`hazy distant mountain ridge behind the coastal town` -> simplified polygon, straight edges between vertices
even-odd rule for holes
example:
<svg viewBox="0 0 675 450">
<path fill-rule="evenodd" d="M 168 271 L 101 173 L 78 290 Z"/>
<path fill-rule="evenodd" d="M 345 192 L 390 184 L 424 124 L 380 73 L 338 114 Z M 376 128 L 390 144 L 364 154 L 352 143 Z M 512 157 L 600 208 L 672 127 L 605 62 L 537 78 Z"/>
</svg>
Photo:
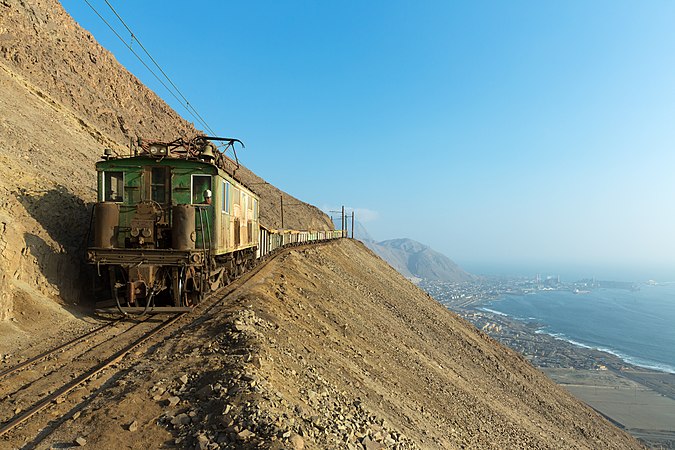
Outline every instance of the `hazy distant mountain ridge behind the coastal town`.
<svg viewBox="0 0 675 450">
<path fill-rule="evenodd" d="M 364 243 L 407 278 L 449 282 L 473 281 L 477 278 L 447 256 L 412 239 L 369 240 Z"/>
</svg>

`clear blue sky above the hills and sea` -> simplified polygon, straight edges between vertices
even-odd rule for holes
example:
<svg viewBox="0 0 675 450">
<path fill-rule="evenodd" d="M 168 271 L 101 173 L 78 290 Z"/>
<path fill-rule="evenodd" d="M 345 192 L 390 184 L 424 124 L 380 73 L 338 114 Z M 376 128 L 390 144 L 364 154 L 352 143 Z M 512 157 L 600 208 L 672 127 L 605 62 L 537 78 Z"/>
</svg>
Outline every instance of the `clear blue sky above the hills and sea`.
<svg viewBox="0 0 675 450">
<path fill-rule="evenodd" d="M 109 1 L 245 165 L 378 240 L 675 279 L 675 2 Z"/>
</svg>

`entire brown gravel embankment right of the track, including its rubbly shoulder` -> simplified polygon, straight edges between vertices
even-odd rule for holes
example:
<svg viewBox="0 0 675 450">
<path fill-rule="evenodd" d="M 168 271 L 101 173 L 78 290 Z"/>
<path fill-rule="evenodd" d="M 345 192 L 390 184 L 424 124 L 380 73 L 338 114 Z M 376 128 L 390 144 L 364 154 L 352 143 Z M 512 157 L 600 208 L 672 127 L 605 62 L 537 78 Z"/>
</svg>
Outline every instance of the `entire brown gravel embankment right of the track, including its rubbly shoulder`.
<svg viewBox="0 0 675 450">
<path fill-rule="evenodd" d="M 642 448 L 348 240 L 284 252 L 77 415 L 42 444 Z"/>
</svg>

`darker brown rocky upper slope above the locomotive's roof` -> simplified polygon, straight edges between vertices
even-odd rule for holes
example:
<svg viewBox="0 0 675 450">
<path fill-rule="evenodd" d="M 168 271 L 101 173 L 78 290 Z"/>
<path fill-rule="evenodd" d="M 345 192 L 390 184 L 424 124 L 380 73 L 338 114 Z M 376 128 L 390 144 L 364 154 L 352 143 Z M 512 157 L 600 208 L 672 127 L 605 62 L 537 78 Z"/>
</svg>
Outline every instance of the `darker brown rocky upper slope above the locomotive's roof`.
<svg viewBox="0 0 675 450">
<path fill-rule="evenodd" d="M 7 0 L 0 10 L 5 64 L 79 116 L 83 131 L 100 142 L 96 151 L 115 144 L 123 151 L 135 136 L 194 134 L 192 124 L 124 70 L 58 1 Z"/>
</svg>

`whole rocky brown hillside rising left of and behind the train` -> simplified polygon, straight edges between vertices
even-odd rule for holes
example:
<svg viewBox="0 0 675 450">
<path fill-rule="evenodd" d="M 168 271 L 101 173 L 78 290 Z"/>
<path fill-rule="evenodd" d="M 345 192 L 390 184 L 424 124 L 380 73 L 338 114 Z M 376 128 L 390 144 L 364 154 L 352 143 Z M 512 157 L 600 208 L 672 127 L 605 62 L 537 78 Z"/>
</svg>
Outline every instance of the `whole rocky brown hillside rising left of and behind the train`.
<svg viewBox="0 0 675 450">
<path fill-rule="evenodd" d="M 196 133 L 58 1 L 0 1 L 0 325 L 21 324 L 15 306 L 25 299 L 73 304 L 83 295 L 93 167 L 105 147 L 126 154 L 130 138 Z M 262 196 L 262 222 L 279 227 L 288 194 L 245 168 L 237 177 Z M 303 205 L 286 212 L 286 227 L 332 228 Z"/>
</svg>

